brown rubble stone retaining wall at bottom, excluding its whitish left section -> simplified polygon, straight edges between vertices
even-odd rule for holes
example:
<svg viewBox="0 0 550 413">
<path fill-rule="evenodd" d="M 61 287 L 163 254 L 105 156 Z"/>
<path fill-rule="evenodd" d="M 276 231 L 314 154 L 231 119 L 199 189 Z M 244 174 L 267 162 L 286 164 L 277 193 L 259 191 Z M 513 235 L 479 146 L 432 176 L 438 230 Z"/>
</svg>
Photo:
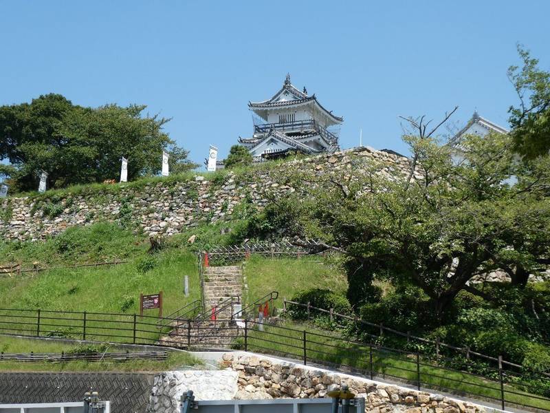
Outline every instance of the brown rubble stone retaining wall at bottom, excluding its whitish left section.
<svg viewBox="0 0 550 413">
<path fill-rule="evenodd" d="M 365 399 L 371 413 L 481 413 L 485 408 L 440 394 L 418 392 L 397 385 L 320 370 L 274 359 L 234 352 L 223 354 L 222 366 L 239 373 L 236 399 L 317 398 L 342 384 Z"/>
</svg>

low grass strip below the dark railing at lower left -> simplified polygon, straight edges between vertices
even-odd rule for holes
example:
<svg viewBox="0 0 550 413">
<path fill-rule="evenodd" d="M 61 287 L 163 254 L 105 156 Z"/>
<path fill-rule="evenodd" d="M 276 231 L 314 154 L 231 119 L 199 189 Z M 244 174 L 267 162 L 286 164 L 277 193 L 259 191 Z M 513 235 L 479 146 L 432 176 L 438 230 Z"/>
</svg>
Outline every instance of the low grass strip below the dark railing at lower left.
<svg viewBox="0 0 550 413">
<path fill-rule="evenodd" d="M 20 339 L 16 337 L 1 337 L 0 350 L 3 352 L 76 352 L 83 348 L 83 344 L 65 343 L 62 341 L 46 341 Z M 107 346 L 107 352 L 126 351 L 125 348 Z M 132 351 L 132 350 L 130 350 Z M 129 361 L 0 361 L 0 371 L 3 372 L 159 372 L 174 370 L 182 367 L 201 368 L 202 362 L 187 352 L 170 351 L 166 360 L 129 360 Z"/>
</svg>

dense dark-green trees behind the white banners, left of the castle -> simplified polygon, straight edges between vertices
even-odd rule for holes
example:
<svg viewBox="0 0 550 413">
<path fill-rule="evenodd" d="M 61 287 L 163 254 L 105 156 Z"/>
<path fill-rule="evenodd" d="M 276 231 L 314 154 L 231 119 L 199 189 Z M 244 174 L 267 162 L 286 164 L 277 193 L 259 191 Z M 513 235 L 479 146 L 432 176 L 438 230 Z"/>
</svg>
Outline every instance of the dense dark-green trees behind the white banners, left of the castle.
<svg viewBox="0 0 550 413">
<path fill-rule="evenodd" d="M 36 189 L 40 170 L 51 187 L 117 179 L 122 156 L 129 159 L 129 180 L 155 175 L 163 150 L 170 153 L 172 171 L 195 167 L 163 131 L 169 119 L 142 116 L 145 108 L 82 107 L 59 94 L 2 106 L 0 159 L 12 164 L 11 181 L 19 190 Z"/>
</svg>

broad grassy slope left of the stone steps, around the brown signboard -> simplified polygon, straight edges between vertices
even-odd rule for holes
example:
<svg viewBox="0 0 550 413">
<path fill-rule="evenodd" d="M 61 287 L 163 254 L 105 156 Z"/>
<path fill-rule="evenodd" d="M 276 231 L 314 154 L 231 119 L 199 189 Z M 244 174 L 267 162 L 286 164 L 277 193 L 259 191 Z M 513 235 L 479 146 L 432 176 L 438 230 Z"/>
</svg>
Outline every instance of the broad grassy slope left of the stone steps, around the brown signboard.
<svg viewBox="0 0 550 413">
<path fill-rule="evenodd" d="M 24 263 L 39 260 L 41 266 L 69 266 L 76 262 L 126 260 L 112 266 L 53 268 L 20 276 L 0 276 L 0 308 L 42 310 L 40 334 L 50 337 L 83 338 L 83 315 L 53 315 L 45 310 L 88 313 L 124 313 L 126 316 L 87 315 L 87 338 L 105 341 L 133 342 L 133 314 L 140 313 L 140 293 L 164 293 L 164 315 L 200 298 L 200 281 L 196 255 L 183 248 L 166 248 L 147 253 L 148 242 L 115 224 L 100 223 L 75 227 L 45 242 L 11 242 L 0 244 L 4 257 Z M 190 295 L 184 297 L 183 279 L 188 275 Z M 8 329 L 3 323 L 0 332 L 35 335 L 38 314 L 11 313 L 9 319 L 21 324 L 22 331 Z M 23 317 L 23 316 L 27 317 Z M 156 317 L 157 310 L 146 310 Z M 54 320 L 48 317 L 63 317 Z M 3 321 L 8 321 L 3 317 Z M 138 326 L 136 342 L 153 343 L 159 337 L 155 319 L 137 319 L 153 325 Z M 24 324 L 28 323 L 28 324 Z M 122 331 L 121 329 L 126 331 Z M 112 330 L 111 330 L 112 329 Z M 95 336 L 94 336 L 95 335 Z M 119 337 L 116 337 L 119 336 Z M 124 336 L 124 337 L 120 337 Z"/>
</svg>

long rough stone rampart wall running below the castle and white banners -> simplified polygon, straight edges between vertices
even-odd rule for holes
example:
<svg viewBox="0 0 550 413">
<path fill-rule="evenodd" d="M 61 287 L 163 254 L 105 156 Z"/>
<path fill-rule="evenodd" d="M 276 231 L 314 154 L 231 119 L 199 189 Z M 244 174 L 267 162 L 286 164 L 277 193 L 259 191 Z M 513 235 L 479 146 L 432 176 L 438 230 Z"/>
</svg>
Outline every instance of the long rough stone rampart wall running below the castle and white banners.
<svg viewBox="0 0 550 413">
<path fill-rule="evenodd" d="M 38 240 L 69 226 L 100 220 L 121 222 L 148 235 L 173 235 L 200 222 L 227 220 L 243 203 L 263 207 L 271 195 L 307 189 L 292 184 L 289 174 L 307 171 L 338 179 L 361 169 L 377 169 L 388 178 L 406 176 L 408 160 L 368 147 L 349 149 L 281 164 L 258 165 L 238 175 L 226 172 L 212 181 L 202 176 L 181 181 L 158 179 L 83 187 L 57 193 L 0 200 L 0 235 L 8 240 Z"/>
</svg>

